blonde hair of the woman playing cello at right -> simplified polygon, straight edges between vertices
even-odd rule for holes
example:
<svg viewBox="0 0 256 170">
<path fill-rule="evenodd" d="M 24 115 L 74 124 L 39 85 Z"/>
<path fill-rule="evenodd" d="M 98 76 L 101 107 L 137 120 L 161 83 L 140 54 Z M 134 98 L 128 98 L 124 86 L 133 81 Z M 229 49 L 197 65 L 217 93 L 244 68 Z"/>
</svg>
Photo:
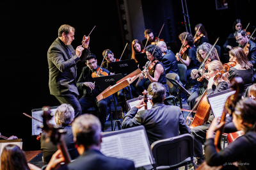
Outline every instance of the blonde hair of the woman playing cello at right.
<svg viewBox="0 0 256 170">
<path fill-rule="evenodd" d="M 208 65 L 208 70 L 209 68 L 211 68 L 211 70 L 213 70 L 214 72 L 216 70 L 220 71 L 220 70 L 223 70 L 223 65 L 220 61 L 218 60 L 214 60 L 214 61 L 211 61 Z M 221 82 L 221 79 L 227 83 L 230 83 L 230 81 L 228 80 L 228 76 L 229 76 L 229 73 L 228 72 L 225 72 L 221 75 L 221 77 L 218 77 L 216 79 L 216 82 L 217 82 L 217 85 Z"/>
</svg>

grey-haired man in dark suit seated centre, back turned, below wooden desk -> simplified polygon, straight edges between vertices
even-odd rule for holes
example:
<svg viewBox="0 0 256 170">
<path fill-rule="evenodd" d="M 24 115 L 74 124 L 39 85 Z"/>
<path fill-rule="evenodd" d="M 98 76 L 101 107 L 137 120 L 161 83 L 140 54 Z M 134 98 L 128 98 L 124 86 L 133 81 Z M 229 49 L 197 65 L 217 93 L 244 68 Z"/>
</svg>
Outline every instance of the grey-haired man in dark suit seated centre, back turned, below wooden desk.
<svg viewBox="0 0 256 170">
<path fill-rule="evenodd" d="M 152 100 L 150 100 L 153 105 L 152 109 L 138 112 L 138 109 L 145 106 L 144 101 L 140 100 L 136 107 L 133 107 L 125 115 L 122 128 L 143 125 L 146 129 L 149 144 L 161 139 L 175 137 L 179 133 L 190 133 L 180 108 L 163 104 L 165 93 L 166 88 L 163 84 L 159 82 L 151 83 L 148 86 L 148 95 L 152 95 Z"/>
</svg>

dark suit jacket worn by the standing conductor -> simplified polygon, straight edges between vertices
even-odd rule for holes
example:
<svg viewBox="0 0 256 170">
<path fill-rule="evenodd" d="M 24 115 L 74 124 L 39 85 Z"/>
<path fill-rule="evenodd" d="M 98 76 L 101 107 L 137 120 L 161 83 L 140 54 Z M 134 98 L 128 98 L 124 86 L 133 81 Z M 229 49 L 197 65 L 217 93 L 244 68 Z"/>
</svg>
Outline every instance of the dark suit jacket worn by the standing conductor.
<svg viewBox="0 0 256 170">
<path fill-rule="evenodd" d="M 72 57 L 68 54 L 68 49 Z M 65 45 L 57 38 L 47 52 L 49 65 L 49 88 L 51 95 L 79 95 L 76 87 L 76 63 L 80 61 L 72 45 Z"/>
</svg>

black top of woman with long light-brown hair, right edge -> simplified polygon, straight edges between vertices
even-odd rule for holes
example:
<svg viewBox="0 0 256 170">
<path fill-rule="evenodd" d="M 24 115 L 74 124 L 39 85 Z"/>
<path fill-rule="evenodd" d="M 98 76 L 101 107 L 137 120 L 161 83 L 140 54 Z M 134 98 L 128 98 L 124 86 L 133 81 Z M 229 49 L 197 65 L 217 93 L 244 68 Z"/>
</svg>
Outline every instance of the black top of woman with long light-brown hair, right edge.
<svg viewBox="0 0 256 170">
<path fill-rule="evenodd" d="M 229 77 L 228 79 L 231 80 L 233 77 L 241 77 L 244 81 L 244 93 L 246 89 L 253 84 L 253 68 L 247 70 L 237 70 L 234 67 L 231 67 L 228 71 Z"/>
</svg>

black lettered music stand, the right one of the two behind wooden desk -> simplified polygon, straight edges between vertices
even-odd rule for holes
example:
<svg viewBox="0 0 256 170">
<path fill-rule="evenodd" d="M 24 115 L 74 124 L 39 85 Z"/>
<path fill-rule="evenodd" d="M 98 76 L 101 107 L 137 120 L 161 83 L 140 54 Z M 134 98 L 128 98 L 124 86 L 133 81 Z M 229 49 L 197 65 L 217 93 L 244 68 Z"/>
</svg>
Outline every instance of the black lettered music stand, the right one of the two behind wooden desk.
<svg viewBox="0 0 256 170">
<path fill-rule="evenodd" d="M 134 59 L 127 59 L 127 60 L 113 62 L 113 63 L 110 63 L 110 66 L 113 69 L 113 72 L 122 73 L 124 77 L 126 75 L 129 75 L 129 73 L 132 73 L 138 69 L 136 61 Z M 130 98 L 132 98 L 132 89 L 130 85 L 129 85 L 129 95 L 130 95 Z"/>
</svg>

